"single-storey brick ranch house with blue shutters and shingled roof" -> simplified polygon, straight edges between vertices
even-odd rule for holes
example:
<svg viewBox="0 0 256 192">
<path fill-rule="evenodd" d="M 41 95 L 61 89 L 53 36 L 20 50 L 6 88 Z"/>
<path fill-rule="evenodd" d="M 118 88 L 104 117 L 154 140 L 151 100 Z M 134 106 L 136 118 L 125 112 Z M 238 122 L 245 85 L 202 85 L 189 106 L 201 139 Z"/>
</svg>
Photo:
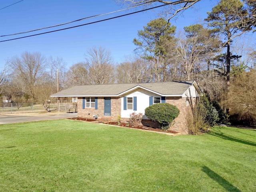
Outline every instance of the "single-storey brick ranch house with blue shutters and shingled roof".
<svg viewBox="0 0 256 192">
<path fill-rule="evenodd" d="M 201 94 L 195 81 L 175 81 L 74 86 L 51 97 L 78 97 L 78 117 L 112 121 L 118 115 L 126 121 L 132 112 L 144 114 L 152 104 L 170 103 L 180 110 L 171 130 L 186 132 L 186 117 Z M 154 124 L 145 115 L 143 119 L 145 126 Z"/>
</svg>

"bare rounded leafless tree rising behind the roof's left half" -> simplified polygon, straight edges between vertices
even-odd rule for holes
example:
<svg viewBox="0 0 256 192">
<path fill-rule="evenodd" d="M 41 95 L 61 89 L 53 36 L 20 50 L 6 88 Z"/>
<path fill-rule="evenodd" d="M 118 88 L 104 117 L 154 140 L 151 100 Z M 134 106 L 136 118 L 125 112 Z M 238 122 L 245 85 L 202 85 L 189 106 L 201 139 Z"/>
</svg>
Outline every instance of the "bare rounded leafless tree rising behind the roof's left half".
<svg viewBox="0 0 256 192">
<path fill-rule="evenodd" d="M 85 56 L 88 81 L 90 84 L 114 82 L 114 60 L 105 48 L 91 48 Z"/>
</svg>

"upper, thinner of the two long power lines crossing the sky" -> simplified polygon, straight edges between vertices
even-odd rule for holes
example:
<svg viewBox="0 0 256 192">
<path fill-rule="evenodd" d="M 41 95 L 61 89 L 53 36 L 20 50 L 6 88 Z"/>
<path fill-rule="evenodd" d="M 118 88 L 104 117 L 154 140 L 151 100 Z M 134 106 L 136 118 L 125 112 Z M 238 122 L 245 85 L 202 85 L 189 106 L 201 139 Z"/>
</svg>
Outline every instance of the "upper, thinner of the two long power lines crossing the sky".
<svg viewBox="0 0 256 192">
<path fill-rule="evenodd" d="M 70 21 L 70 22 L 66 22 L 66 23 L 62 23 L 62 24 L 57 24 L 57 25 L 53 25 L 53 26 L 48 26 L 48 27 L 44 27 L 44 28 L 34 29 L 34 30 L 26 31 L 26 32 L 19 32 L 19 33 L 8 34 L 8 35 L 1 35 L 0 37 L 24 34 L 24 33 L 29 33 L 29 32 L 33 32 L 33 31 L 42 30 L 42 29 L 62 26 L 62 25 L 70 24 L 70 23 L 77 22 L 77 21 L 82 21 L 82 20 L 86 20 L 86 19 L 90 19 L 90 18 L 94 18 L 94 17 L 98 17 L 98 16 L 104 16 L 104 15 L 108 15 L 108 14 L 112 14 L 112 13 L 128 10 L 128 9 L 131 9 L 131 8 L 136 8 L 136 7 L 139 7 L 139 6 L 142 6 L 142 5 L 146 5 L 146 4 L 149 4 L 149 3 L 152 3 L 152 2 L 147 2 L 147 3 L 139 4 L 139 5 L 136 5 L 136 6 L 132 6 L 132 7 L 129 7 L 129 8 L 125 8 L 125 9 L 122 9 L 122 10 L 117 10 L 117 11 L 108 12 L 108 13 L 104 13 L 104 14 L 94 15 L 94 16 L 90 16 L 90 17 L 86 17 L 86 18 L 82 18 L 82 19 L 78 19 L 78 20 L 74 20 L 74 21 Z"/>
</svg>

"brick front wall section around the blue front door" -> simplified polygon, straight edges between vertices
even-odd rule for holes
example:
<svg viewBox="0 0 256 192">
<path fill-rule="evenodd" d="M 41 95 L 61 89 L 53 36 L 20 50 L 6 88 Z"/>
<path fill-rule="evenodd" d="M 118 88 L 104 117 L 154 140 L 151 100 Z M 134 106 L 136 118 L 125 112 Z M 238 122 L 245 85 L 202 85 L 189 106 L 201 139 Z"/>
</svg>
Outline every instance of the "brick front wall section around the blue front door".
<svg viewBox="0 0 256 192">
<path fill-rule="evenodd" d="M 78 97 L 78 117 L 93 119 L 93 115 L 98 115 L 98 119 L 104 121 L 116 121 L 118 115 L 121 114 L 121 98 L 111 98 L 111 116 L 104 116 L 104 97 L 98 97 L 98 109 L 85 108 L 83 109 L 83 98 Z"/>
</svg>

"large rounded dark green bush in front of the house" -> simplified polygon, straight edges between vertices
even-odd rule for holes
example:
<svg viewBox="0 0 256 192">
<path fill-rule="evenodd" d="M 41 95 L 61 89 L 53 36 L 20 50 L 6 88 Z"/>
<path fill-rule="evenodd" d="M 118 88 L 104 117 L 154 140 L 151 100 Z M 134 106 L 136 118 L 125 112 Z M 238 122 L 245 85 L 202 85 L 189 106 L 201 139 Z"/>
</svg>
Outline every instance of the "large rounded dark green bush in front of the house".
<svg viewBox="0 0 256 192">
<path fill-rule="evenodd" d="M 160 123 L 162 130 L 167 130 L 179 113 L 180 110 L 169 103 L 157 103 L 145 109 L 145 115 L 150 120 Z"/>
</svg>

